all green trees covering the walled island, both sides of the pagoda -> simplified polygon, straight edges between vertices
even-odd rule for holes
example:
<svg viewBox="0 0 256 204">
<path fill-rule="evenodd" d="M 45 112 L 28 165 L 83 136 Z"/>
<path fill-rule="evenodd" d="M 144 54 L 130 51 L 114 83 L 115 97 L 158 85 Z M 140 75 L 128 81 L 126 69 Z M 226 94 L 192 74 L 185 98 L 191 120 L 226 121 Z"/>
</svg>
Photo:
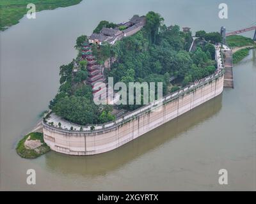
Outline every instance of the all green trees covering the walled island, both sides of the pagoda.
<svg viewBox="0 0 256 204">
<path fill-rule="evenodd" d="M 133 18 L 138 17 L 134 15 Z M 67 65 L 60 67 L 60 89 L 50 102 L 49 108 L 61 118 L 84 126 L 102 124 L 116 118 L 113 108 L 129 112 L 142 105 L 95 105 L 92 86 L 88 83 L 90 71 L 84 52 L 95 57 L 97 64 L 104 66 L 108 59 L 115 59 L 104 76 L 113 77 L 114 82 L 163 82 L 163 94 L 179 90 L 195 80 L 211 75 L 216 70 L 215 48 L 220 34 L 208 33 L 206 43 L 198 45 L 193 52 L 189 47 L 193 41 L 191 32 L 180 31 L 179 25 L 166 26 L 158 13 L 150 11 L 145 25 L 131 36 L 116 41 L 114 45 L 103 41 L 88 43 L 88 36 L 79 36 L 76 41 L 78 55 Z M 97 25 L 95 33 L 104 28 L 125 31 L 125 25 L 106 20 Z M 90 44 L 90 45 L 88 45 Z M 91 50 L 84 50 L 90 46 Z M 172 79 L 172 80 L 170 80 Z M 135 94 L 135 93 L 134 93 Z"/>
</svg>

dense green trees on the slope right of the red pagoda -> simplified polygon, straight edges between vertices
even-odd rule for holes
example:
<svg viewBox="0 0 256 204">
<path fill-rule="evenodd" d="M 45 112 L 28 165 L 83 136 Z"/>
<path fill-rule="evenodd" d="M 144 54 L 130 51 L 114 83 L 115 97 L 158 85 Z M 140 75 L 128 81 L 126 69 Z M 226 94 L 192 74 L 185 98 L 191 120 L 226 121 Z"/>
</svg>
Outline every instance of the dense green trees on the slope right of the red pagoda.
<svg viewBox="0 0 256 204">
<path fill-rule="evenodd" d="M 193 41 L 190 32 L 180 31 L 178 25 L 167 27 L 163 17 L 152 11 L 146 18 L 140 32 L 109 47 L 108 53 L 117 61 L 106 75 L 114 77 L 114 82 L 163 82 L 163 94 L 167 94 L 173 85 L 185 86 L 214 72 L 215 49 L 211 43 L 189 53 Z M 175 83 L 170 84 L 170 77 L 176 78 Z"/>
</svg>

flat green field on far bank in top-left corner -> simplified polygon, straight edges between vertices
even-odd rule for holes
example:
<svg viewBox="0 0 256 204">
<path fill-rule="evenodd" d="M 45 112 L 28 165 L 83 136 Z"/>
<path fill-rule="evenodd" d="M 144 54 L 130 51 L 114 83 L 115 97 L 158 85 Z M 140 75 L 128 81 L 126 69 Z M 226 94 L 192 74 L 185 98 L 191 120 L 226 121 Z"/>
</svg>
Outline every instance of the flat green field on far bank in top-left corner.
<svg viewBox="0 0 256 204">
<path fill-rule="evenodd" d="M 0 30 L 4 31 L 11 25 L 19 23 L 29 9 L 27 4 L 33 3 L 36 11 L 53 10 L 80 3 L 82 0 L 1 0 L 0 1 Z"/>
</svg>

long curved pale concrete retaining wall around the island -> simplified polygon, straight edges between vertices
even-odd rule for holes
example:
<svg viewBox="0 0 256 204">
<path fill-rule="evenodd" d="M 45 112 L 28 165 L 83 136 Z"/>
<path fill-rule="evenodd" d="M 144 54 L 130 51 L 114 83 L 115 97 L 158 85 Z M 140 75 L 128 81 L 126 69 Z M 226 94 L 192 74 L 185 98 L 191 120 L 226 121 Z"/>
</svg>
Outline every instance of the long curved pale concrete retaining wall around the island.
<svg viewBox="0 0 256 204">
<path fill-rule="evenodd" d="M 223 74 L 177 98 L 166 98 L 159 112 L 140 112 L 122 123 L 93 131 L 65 131 L 44 123 L 44 140 L 56 152 L 73 155 L 92 155 L 124 145 L 138 136 L 157 128 L 218 96 L 223 91 Z"/>
</svg>

